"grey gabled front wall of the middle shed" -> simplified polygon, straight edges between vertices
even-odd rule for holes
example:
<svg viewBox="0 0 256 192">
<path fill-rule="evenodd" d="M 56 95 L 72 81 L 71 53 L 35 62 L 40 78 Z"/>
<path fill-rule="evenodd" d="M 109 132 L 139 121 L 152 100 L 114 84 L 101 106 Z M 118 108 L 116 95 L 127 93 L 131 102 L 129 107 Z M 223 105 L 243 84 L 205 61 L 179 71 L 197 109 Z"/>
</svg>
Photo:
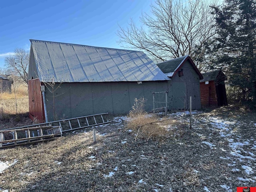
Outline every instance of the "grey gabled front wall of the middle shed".
<svg viewBox="0 0 256 192">
<path fill-rule="evenodd" d="M 188 109 L 189 97 L 192 96 L 192 109 L 200 109 L 200 80 L 192 65 L 187 61 L 182 66 L 183 76 L 178 72 L 168 84 L 169 110 Z"/>
</svg>

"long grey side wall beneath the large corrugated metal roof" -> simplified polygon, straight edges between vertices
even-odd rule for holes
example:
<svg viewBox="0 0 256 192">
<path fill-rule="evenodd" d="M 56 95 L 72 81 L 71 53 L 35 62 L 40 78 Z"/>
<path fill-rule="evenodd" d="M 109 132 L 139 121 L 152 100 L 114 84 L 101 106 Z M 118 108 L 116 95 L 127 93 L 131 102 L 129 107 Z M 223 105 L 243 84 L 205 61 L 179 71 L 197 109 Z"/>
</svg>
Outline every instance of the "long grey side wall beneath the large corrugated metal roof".
<svg viewBox="0 0 256 192">
<path fill-rule="evenodd" d="M 146 110 L 153 109 L 152 92 L 166 91 L 168 82 L 98 82 L 98 83 L 56 83 L 54 94 L 46 88 L 46 110 L 48 120 L 53 120 L 53 106 L 56 119 L 74 118 L 108 112 L 127 114 L 135 98 L 146 99 Z M 46 84 L 48 88 L 49 85 Z M 60 86 L 57 88 L 57 86 Z M 50 89 L 51 90 L 51 89 Z M 52 90 L 51 90 L 52 91 Z M 54 96 L 54 104 L 53 104 Z"/>
</svg>

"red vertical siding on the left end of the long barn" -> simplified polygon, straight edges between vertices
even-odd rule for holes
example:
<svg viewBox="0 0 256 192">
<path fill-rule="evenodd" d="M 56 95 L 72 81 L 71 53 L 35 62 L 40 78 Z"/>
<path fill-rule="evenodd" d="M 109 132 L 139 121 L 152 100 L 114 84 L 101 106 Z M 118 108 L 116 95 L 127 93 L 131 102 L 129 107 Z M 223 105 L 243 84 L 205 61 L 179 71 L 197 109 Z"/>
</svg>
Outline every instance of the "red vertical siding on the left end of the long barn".
<svg viewBox="0 0 256 192">
<path fill-rule="evenodd" d="M 41 92 L 40 80 L 28 80 L 28 102 L 29 102 L 29 118 L 35 118 L 41 123 L 45 121 L 44 117 L 44 104 Z"/>
</svg>

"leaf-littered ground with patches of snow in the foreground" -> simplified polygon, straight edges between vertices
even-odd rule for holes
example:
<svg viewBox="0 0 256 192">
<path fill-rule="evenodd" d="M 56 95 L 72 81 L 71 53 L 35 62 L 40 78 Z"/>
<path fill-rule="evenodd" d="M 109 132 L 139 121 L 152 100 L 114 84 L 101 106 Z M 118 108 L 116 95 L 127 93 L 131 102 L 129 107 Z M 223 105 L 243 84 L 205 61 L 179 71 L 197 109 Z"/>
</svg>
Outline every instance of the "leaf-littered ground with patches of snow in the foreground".
<svg viewBox="0 0 256 192">
<path fill-rule="evenodd" d="M 0 150 L 0 188 L 15 191 L 236 192 L 256 185 L 256 114 L 228 107 L 168 114 L 158 139 L 134 140 L 125 116 L 51 142 Z M 174 123 L 175 121 L 175 123 Z M 13 162 L 16 162 L 12 164 Z"/>
</svg>

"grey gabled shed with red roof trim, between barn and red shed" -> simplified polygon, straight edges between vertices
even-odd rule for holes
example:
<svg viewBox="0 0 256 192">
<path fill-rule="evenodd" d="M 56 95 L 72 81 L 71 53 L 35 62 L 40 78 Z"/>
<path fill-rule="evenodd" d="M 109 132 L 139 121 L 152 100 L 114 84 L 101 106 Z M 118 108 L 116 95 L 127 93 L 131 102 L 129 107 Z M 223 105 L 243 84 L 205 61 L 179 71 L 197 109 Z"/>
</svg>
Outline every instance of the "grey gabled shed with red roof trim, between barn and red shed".
<svg viewBox="0 0 256 192">
<path fill-rule="evenodd" d="M 192 108 L 201 108 L 199 81 L 203 76 L 190 56 L 164 61 L 157 66 L 170 78 L 168 81 L 169 110 L 188 109 L 190 96 L 192 96 Z"/>
</svg>

